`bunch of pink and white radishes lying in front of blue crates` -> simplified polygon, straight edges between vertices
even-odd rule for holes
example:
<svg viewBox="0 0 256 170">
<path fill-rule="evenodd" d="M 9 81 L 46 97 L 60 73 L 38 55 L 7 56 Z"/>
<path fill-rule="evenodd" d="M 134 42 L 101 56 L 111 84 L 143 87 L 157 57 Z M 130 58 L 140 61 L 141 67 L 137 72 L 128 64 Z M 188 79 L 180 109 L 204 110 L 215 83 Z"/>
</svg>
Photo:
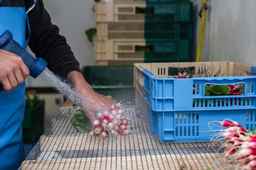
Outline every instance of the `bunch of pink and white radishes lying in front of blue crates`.
<svg viewBox="0 0 256 170">
<path fill-rule="evenodd" d="M 224 137 L 226 148 L 224 157 L 237 163 L 241 170 L 256 170 L 256 134 L 243 128 L 236 121 L 222 121 L 225 128 L 220 135 Z"/>
</svg>

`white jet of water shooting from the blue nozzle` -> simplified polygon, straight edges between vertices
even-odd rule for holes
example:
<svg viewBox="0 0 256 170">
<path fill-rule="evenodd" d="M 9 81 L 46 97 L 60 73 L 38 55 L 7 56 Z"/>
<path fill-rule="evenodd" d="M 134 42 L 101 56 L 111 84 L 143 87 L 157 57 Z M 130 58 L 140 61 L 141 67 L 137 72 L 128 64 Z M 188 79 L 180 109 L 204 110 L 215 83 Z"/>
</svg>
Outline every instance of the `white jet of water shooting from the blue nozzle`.
<svg viewBox="0 0 256 170">
<path fill-rule="evenodd" d="M 46 81 L 51 83 L 58 90 L 59 93 L 67 98 L 70 98 L 70 100 L 72 100 L 75 105 L 80 105 L 79 95 L 76 94 L 72 86 L 67 84 L 65 80 L 63 80 L 63 78 L 56 76 L 47 68 L 43 70 L 41 75 L 43 76 L 43 78 L 45 78 Z"/>
</svg>

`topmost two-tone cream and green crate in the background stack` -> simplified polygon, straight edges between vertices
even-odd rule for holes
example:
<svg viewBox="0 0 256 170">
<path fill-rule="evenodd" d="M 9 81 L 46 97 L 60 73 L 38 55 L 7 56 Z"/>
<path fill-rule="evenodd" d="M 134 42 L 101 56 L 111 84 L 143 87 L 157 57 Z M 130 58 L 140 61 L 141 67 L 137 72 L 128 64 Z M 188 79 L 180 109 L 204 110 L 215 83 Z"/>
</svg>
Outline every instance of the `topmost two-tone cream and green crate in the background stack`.
<svg viewBox="0 0 256 170">
<path fill-rule="evenodd" d="M 148 8 L 153 13 L 139 13 Z M 144 20 L 192 21 L 192 2 L 112 1 L 95 3 L 96 22 L 141 22 Z M 146 18 L 145 18 L 146 17 Z"/>
</svg>

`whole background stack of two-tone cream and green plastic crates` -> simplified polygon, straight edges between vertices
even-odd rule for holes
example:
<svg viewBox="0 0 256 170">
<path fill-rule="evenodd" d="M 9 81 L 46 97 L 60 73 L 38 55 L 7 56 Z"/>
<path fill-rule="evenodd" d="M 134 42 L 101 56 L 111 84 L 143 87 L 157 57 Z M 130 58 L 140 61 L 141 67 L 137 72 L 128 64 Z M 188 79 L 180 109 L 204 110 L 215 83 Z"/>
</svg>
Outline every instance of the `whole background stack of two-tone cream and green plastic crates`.
<svg viewBox="0 0 256 170">
<path fill-rule="evenodd" d="M 95 3 L 97 65 L 191 60 L 192 2 Z"/>
</svg>

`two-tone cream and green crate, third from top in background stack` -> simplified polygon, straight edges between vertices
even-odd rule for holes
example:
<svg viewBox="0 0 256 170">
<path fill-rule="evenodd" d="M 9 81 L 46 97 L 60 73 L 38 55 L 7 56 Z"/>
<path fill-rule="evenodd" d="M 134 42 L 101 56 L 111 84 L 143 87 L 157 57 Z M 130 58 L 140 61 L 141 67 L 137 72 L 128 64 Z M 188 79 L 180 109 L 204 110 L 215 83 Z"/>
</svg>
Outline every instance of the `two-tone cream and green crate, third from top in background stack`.
<svg viewBox="0 0 256 170">
<path fill-rule="evenodd" d="M 96 40 L 95 59 L 145 63 L 190 61 L 191 40 Z"/>
</svg>

